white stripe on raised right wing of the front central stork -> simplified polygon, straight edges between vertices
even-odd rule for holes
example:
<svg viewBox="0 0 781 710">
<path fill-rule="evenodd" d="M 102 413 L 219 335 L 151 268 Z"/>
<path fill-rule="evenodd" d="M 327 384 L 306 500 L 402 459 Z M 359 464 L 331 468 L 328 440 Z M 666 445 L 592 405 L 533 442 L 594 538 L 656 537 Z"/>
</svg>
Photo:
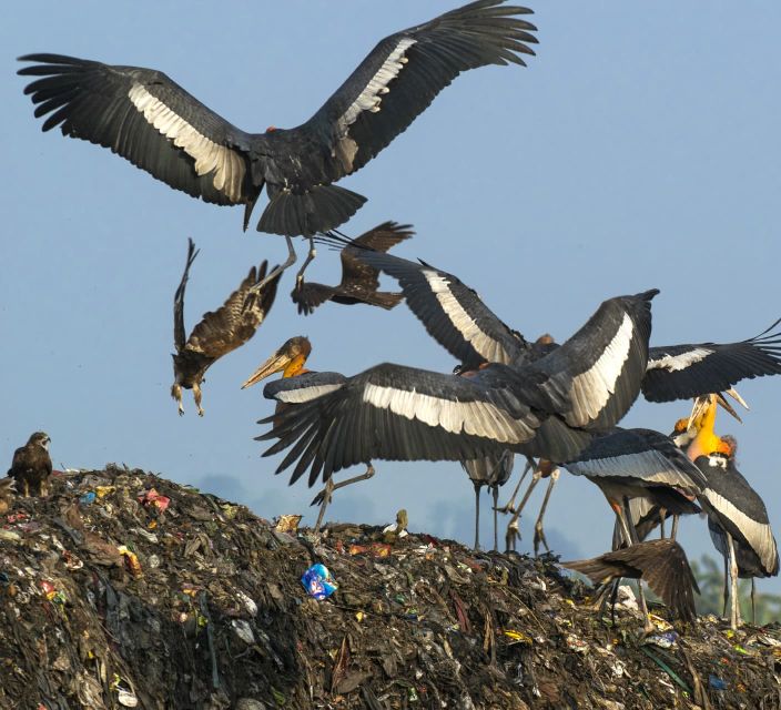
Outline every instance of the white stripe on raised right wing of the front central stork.
<svg viewBox="0 0 781 710">
<path fill-rule="evenodd" d="M 602 410 L 616 389 L 616 382 L 629 356 L 632 334 L 632 320 L 625 313 L 621 326 L 599 359 L 585 373 L 572 378 L 572 412 L 567 417 L 570 424 L 585 426 Z"/>
</svg>

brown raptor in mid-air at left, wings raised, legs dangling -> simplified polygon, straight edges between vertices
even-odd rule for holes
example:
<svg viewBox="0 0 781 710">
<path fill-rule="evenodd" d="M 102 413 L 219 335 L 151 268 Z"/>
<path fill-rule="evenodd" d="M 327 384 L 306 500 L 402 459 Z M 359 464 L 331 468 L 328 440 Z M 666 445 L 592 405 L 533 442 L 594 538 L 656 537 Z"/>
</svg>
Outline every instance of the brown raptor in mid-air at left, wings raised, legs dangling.
<svg viewBox="0 0 781 710">
<path fill-rule="evenodd" d="M 282 273 L 263 286 L 260 293 L 253 295 L 253 287 L 265 278 L 267 263 L 264 261 L 258 268 L 253 266 L 225 303 L 216 311 L 204 313 L 201 322 L 185 339 L 184 292 L 190 278 L 190 267 L 197 254 L 193 241 L 187 240 L 187 261 L 173 297 L 173 342 L 176 352 L 172 355 L 174 383 L 171 386 L 171 396 L 179 403 L 179 414 L 182 415 L 182 387 L 192 389 L 199 416 L 203 416 L 201 383 L 206 371 L 223 355 L 241 347 L 255 335 L 274 303 Z"/>
</svg>

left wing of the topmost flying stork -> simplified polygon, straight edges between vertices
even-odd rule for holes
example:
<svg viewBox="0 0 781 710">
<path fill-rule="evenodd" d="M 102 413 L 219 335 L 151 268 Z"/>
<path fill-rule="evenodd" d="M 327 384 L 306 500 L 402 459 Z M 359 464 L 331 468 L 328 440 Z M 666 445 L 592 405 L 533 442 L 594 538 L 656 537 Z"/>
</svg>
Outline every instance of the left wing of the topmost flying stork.
<svg viewBox="0 0 781 710">
<path fill-rule="evenodd" d="M 24 93 L 37 118 L 49 114 L 44 131 L 59 125 L 63 135 L 108 148 L 206 202 L 247 203 L 260 193 L 248 179 L 251 136 L 164 73 L 62 54 L 19 59 L 37 62 L 18 73 L 40 77 Z"/>
</svg>

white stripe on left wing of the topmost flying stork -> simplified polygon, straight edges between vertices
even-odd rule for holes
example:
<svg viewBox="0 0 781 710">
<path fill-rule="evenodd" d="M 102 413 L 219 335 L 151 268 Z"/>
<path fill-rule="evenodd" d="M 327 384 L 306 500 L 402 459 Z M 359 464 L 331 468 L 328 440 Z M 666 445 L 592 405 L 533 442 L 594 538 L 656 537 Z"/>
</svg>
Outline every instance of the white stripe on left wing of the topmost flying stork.
<svg viewBox="0 0 781 710">
<path fill-rule="evenodd" d="M 213 172 L 214 187 L 229 200 L 241 202 L 245 166 L 240 155 L 230 148 L 210 141 L 162 101 L 155 99 L 143 85 L 134 83 L 128 97 L 150 125 L 171 139 L 176 148 L 181 148 L 195 161 L 195 172 L 199 175 Z"/>
</svg>

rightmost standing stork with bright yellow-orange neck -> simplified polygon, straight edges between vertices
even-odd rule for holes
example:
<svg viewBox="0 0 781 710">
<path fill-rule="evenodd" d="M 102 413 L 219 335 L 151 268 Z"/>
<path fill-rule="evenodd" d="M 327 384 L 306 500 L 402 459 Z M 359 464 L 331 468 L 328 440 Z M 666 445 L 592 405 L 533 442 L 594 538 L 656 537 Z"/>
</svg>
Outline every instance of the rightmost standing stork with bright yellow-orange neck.
<svg viewBox="0 0 781 710">
<path fill-rule="evenodd" d="M 736 465 L 734 437 L 720 437 L 713 430 L 716 410 L 716 397 L 710 397 L 704 413 L 692 423 L 697 435 L 687 454 L 707 480 L 699 501 L 708 514 L 713 544 L 724 557 L 730 625 L 737 628 L 741 623 L 738 577 L 751 578 L 753 611 L 754 578 L 779 574 L 779 552 L 764 501 Z"/>
</svg>

